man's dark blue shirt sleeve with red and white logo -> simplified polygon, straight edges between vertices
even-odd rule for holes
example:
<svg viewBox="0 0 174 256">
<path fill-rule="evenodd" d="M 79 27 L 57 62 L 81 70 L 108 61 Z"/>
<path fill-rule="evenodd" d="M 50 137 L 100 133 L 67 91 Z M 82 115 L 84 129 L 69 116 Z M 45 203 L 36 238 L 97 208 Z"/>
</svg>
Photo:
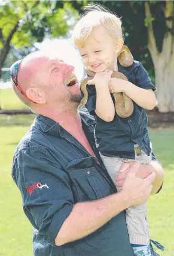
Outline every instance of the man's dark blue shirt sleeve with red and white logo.
<svg viewBox="0 0 174 256">
<path fill-rule="evenodd" d="M 27 218 L 53 246 L 74 205 L 69 176 L 55 165 L 47 151 L 30 149 L 18 153 L 12 168 Z"/>
</svg>

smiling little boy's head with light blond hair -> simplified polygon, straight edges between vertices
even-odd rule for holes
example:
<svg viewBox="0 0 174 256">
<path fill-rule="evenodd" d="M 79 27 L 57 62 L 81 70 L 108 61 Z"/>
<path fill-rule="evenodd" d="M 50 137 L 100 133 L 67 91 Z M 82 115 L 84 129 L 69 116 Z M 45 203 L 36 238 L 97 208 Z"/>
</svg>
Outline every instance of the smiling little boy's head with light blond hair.
<svg viewBox="0 0 174 256">
<path fill-rule="evenodd" d="M 75 25 L 72 39 L 84 66 L 94 72 L 113 69 L 123 46 L 121 20 L 99 5 L 89 5 Z"/>
</svg>

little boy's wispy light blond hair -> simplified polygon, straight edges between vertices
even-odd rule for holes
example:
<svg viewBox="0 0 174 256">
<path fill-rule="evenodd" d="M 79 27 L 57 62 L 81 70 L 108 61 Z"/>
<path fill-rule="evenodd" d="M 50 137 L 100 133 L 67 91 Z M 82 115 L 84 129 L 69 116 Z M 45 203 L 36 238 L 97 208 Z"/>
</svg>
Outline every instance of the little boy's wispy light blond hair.
<svg viewBox="0 0 174 256">
<path fill-rule="evenodd" d="M 123 39 L 121 19 L 111 10 L 99 4 L 87 5 L 85 10 L 86 12 L 72 31 L 72 40 L 75 46 L 83 47 L 92 29 L 99 25 L 102 25 L 115 40 Z"/>
</svg>

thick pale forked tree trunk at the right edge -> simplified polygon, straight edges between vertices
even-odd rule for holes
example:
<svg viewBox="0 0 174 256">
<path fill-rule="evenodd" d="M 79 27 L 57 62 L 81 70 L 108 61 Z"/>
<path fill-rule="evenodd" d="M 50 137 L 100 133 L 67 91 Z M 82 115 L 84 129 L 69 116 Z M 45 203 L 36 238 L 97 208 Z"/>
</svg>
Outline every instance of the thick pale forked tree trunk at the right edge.
<svg viewBox="0 0 174 256">
<path fill-rule="evenodd" d="M 165 17 L 166 26 L 170 31 L 164 36 L 162 41 L 162 50 L 158 51 L 154 36 L 153 25 L 151 22 L 151 13 L 149 2 L 145 2 L 145 15 L 148 22 L 148 49 L 155 67 L 155 85 L 157 87 L 157 108 L 159 112 L 174 112 L 174 37 L 173 20 L 174 5 L 172 1 L 166 1 Z"/>
</svg>

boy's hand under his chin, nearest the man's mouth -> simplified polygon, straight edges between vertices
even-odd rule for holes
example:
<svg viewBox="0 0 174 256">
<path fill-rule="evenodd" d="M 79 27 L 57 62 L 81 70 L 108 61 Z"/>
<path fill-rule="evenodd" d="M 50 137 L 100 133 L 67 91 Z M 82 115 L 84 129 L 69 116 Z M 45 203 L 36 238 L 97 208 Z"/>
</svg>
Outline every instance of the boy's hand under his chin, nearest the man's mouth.
<svg viewBox="0 0 174 256">
<path fill-rule="evenodd" d="M 111 80 L 111 75 L 113 70 L 105 70 L 104 72 L 95 73 L 93 79 L 88 81 L 88 84 L 94 84 L 95 86 L 108 86 L 108 83 Z"/>
</svg>

